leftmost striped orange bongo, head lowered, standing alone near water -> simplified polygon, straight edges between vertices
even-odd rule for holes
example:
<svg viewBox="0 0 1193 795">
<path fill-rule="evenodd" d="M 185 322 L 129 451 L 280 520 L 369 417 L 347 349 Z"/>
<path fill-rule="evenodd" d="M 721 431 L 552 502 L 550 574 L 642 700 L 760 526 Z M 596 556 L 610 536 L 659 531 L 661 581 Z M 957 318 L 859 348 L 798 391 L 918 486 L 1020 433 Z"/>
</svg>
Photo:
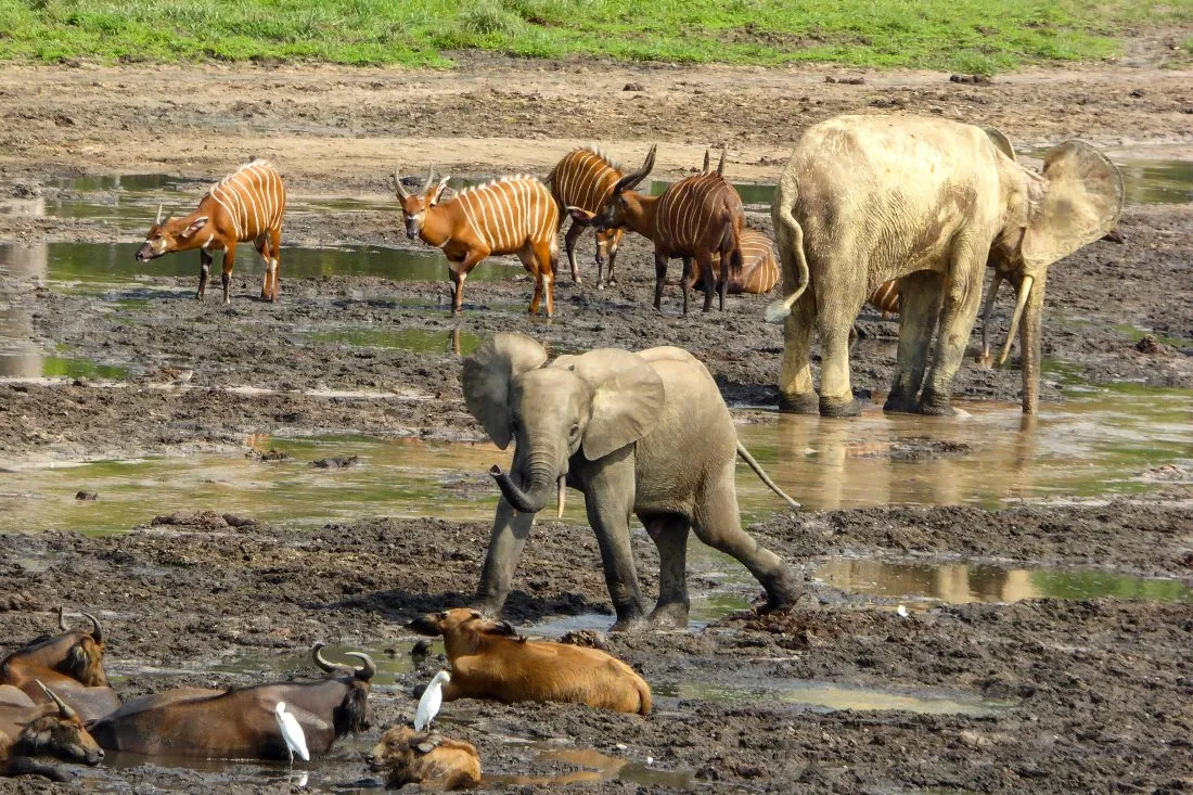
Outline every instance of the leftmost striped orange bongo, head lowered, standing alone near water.
<svg viewBox="0 0 1193 795">
<path fill-rule="evenodd" d="M 282 251 L 282 216 L 286 211 L 286 189 L 282 177 L 265 160 L 252 160 L 228 174 L 199 199 L 199 207 L 180 218 L 161 218 L 149 227 L 146 242 L 137 251 L 144 263 L 179 251 L 199 249 L 199 291 L 203 300 L 211 270 L 211 252 L 222 251 L 224 303 L 236 258 L 236 244 L 252 240 L 265 260 L 262 301 L 278 300 L 278 255 Z"/>
</svg>

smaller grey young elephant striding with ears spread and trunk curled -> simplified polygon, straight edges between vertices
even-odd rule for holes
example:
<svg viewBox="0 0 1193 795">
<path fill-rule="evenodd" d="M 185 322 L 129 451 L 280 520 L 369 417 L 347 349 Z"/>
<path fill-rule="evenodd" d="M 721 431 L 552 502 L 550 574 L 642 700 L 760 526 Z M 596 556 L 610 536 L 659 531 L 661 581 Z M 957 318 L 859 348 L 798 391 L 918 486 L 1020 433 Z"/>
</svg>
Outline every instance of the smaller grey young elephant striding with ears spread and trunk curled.
<svg viewBox="0 0 1193 795">
<path fill-rule="evenodd" d="M 758 578 L 767 606 L 792 605 L 799 590 L 787 565 L 741 528 L 734 464 L 742 458 L 774 492 L 737 442 L 712 376 L 687 351 L 617 349 L 561 356 L 521 334 L 496 334 L 464 360 L 464 401 L 502 450 L 515 442 L 509 474 L 494 466 L 502 498 L 475 605 L 496 614 L 509 592 L 534 516 L 564 485 L 585 493 L 605 581 L 617 610 L 614 629 L 644 610 L 630 553 L 630 514 L 659 547 L 659 604 L 651 621 L 687 624 L 688 528 L 733 555 Z"/>
</svg>

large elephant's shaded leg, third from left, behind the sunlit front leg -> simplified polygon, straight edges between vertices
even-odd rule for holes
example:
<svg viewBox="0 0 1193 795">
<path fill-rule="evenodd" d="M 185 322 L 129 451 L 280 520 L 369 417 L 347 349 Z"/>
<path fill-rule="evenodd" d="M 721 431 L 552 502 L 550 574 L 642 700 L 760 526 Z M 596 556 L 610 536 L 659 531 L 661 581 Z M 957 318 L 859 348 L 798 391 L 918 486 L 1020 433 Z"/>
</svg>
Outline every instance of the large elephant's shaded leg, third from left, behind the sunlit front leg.
<svg viewBox="0 0 1193 795">
<path fill-rule="evenodd" d="M 932 332 L 940 314 L 940 288 L 942 279 L 935 271 L 916 271 L 898 281 L 898 360 L 895 378 L 883 411 L 915 412 L 916 396 L 923 383 L 923 371 L 928 362 Z"/>
</svg>

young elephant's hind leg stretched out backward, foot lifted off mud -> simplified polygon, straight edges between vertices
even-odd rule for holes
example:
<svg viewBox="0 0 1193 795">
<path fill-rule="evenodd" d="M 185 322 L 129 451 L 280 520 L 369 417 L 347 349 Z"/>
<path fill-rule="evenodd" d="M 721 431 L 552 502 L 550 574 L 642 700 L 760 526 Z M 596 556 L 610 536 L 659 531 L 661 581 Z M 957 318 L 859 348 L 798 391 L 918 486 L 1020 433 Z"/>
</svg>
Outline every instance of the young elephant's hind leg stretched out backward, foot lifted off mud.
<svg viewBox="0 0 1193 795">
<path fill-rule="evenodd" d="M 796 604 L 801 588 L 787 563 L 742 530 L 734 488 L 734 462 L 725 467 L 721 477 L 706 486 L 692 519 L 700 541 L 740 561 L 766 588 L 768 610 L 783 610 Z"/>
</svg>

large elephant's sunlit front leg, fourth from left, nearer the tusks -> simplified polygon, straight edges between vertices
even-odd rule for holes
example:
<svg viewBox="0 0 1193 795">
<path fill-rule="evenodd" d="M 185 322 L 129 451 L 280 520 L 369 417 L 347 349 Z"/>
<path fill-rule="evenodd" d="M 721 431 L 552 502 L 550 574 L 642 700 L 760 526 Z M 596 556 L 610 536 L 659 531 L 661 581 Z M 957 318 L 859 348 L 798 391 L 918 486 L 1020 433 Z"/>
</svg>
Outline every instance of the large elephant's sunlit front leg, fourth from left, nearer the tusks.
<svg viewBox="0 0 1193 795">
<path fill-rule="evenodd" d="M 920 396 L 920 412 L 950 417 L 953 376 L 965 358 L 969 343 L 982 304 L 982 277 L 989 249 L 971 241 L 958 241 L 948 269 L 945 301 L 940 309 L 940 332 L 933 352 L 932 370 Z"/>
</svg>

